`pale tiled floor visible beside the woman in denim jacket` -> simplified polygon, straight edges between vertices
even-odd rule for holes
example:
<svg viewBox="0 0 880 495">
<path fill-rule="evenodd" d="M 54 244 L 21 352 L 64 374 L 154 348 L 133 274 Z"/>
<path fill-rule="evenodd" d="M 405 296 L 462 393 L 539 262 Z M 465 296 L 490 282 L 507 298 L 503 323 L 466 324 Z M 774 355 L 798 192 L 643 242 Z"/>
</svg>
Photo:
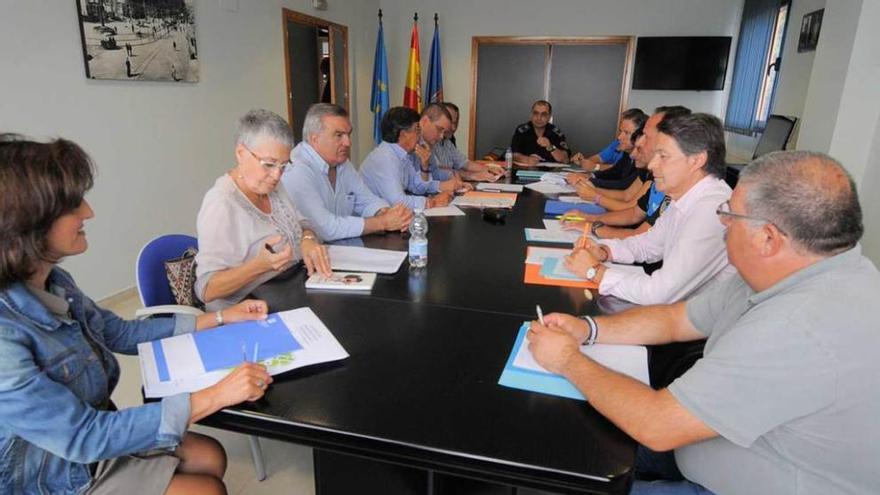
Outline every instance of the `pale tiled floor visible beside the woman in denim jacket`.
<svg viewBox="0 0 880 495">
<path fill-rule="evenodd" d="M 135 291 L 102 301 L 102 305 L 123 318 L 134 318 L 141 307 Z M 122 367 L 122 377 L 113 393 L 113 401 L 120 408 L 141 405 L 140 369 L 135 356 L 116 356 Z M 267 478 L 257 481 L 251 461 L 247 436 L 238 433 L 193 427 L 193 431 L 205 433 L 219 440 L 226 448 L 229 466 L 226 470 L 226 488 L 230 495 L 248 494 L 295 494 L 312 495 L 315 481 L 312 475 L 312 449 L 276 440 L 261 439 Z"/>
</svg>

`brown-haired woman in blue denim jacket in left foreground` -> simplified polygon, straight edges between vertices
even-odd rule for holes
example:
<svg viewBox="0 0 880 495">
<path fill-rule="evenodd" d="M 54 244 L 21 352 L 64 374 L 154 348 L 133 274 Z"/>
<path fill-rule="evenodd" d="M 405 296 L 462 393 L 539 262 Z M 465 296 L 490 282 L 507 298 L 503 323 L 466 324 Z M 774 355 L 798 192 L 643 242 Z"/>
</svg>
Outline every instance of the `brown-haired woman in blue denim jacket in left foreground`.
<svg viewBox="0 0 880 495">
<path fill-rule="evenodd" d="M 76 144 L 0 134 L 0 493 L 225 493 L 223 448 L 194 421 L 261 397 L 272 378 L 244 364 L 192 394 L 117 411 L 113 352 L 266 317 L 262 301 L 217 315 L 124 321 L 56 264 L 86 250 L 91 162 Z"/>
</svg>

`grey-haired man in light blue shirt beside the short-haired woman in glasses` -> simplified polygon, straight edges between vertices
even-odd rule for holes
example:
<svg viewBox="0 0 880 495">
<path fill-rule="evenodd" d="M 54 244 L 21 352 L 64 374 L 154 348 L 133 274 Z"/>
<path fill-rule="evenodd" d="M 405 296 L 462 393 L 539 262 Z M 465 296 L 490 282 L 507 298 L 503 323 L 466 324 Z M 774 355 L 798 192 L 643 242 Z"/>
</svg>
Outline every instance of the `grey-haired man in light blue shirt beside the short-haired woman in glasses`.
<svg viewBox="0 0 880 495">
<path fill-rule="evenodd" d="M 412 211 L 402 204 L 389 207 L 364 185 L 349 160 L 351 132 L 345 109 L 312 105 L 303 141 L 290 153 L 293 166 L 281 179 L 285 189 L 324 240 L 405 231 Z"/>
</svg>

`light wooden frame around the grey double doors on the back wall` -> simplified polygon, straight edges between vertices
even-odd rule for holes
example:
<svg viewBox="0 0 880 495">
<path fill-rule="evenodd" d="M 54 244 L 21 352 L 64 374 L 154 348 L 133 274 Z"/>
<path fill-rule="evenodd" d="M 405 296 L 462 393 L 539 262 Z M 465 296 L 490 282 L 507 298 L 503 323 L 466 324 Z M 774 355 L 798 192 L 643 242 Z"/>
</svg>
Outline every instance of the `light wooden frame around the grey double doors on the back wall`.
<svg viewBox="0 0 880 495">
<path fill-rule="evenodd" d="M 551 45 L 626 45 L 626 63 L 623 66 L 623 78 L 620 88 L 620 110 L 626 109 L 629 101 L 629 88 L 632 86 L 632 63 L 635 54 L 635 36 L 474 36 L 471 38 L 471 104 L 468 124 L 468 158 L 474 156 L 477 130 L 477 74 L 479 69 L 479 53 L 481 45 L 531 45 L 545 46 L 547 52 Z M 544 73 L 547 74 L 547 57 L 544 58 Z"/>
</svg>

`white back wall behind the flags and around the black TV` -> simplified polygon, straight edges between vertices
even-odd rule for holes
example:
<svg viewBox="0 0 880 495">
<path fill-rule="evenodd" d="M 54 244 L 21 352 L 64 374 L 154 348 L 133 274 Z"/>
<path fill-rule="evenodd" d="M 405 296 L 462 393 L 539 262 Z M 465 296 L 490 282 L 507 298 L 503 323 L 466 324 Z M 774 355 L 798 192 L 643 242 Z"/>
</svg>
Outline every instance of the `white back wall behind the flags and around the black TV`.
<svg viewBox="0 0 880 495">
<path fill-rule="evenodd" d="M 381 0 L 390 61 L 391 104 L 400 105 L 403 101 L 413 12 L 419 13 L 423 76 L 428 70 L 434 12 L 440 15 L 444 98 L 461 107 L 462 125 L 456 137 L 460 143 L 467 143 L 473 36 L 714 35 L 732 36 L 735 47 L 742 3 L 742 0 Z M 725 91 L 630 91 L 627 105 L 650 112 L 658 105 L 682 104 L 696 111 L 723 115 L 734 51 L 731 48 Z M 522 120 L 527 119 L 528 109 L 524 108 Z M 515 124 L 511 122 L 511 132 Z M 564 122 L 560 125 L 565 127 Z"/>
</svg>

